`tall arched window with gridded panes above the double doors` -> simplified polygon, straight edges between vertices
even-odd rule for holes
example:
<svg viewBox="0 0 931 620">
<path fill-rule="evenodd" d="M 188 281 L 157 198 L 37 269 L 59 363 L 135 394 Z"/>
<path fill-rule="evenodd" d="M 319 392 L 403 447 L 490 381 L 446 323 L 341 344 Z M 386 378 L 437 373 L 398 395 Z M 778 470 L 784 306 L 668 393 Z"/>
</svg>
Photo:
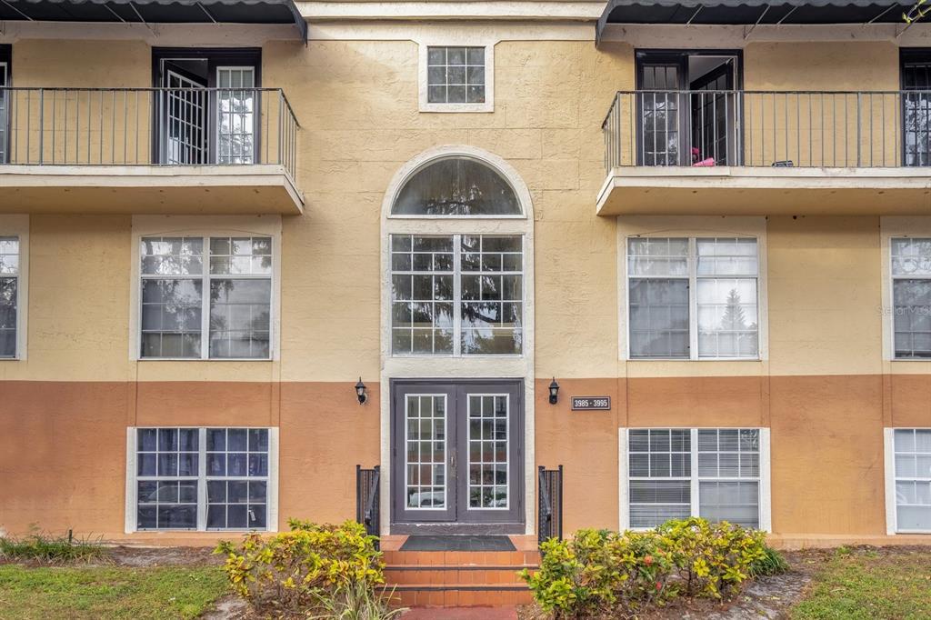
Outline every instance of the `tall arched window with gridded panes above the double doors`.
<svg viewBox="0 0 931 620">
<path fill-rule="evenodd" d="M 398 171 L 383 211 L 390 355 L 527 354 L 526 186 L 506 162 L 466 147 L 418 159 Z"/>
</svg>

